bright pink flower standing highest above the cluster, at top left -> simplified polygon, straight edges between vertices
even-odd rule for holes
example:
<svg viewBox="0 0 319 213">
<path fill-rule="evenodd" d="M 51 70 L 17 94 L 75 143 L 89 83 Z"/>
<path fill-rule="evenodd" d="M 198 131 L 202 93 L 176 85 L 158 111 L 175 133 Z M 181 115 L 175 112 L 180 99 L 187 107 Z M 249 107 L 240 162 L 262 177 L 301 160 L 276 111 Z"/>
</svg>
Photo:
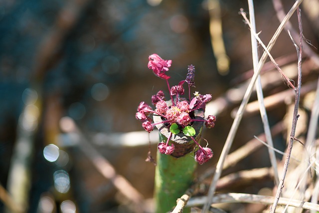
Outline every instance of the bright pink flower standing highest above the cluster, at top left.
<svg viewBox="0 0 319 213">
<path fill-rule="evenodd" d="M 158 54 L 150 55 L 149 60 L 148 67 L 153 70 L 155 75 L 166 80 L 170 78 L 165 72 L 171 66 L 171 60 L 164 60 Z"/>
</svg>

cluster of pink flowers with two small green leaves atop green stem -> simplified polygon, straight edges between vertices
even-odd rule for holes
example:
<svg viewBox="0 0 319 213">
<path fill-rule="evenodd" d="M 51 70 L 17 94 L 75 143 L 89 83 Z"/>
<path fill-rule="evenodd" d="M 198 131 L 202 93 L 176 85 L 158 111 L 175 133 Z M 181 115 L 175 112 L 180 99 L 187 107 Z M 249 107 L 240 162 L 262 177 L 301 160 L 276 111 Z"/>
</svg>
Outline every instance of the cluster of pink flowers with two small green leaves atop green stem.
<svg viewBox="0 0 319 213">
<path fill-rule="evenodd" d="M 195 116 L 196 111 L 205 110 L 206 103 L 211 100 L 211 95 L 201 95 L 195 92 L 194 97 L 190 97 L 190 87 L 194 87 L 195 78 L 195 66 L 193 65 L 188 66 L 185 80 L 180 81 L 178 85 L 170 87 L 168 83 L 170 76 L 166 75 L 170 66 L 171 60 L 164 60 L 157 54 L 149 56 L 148 67 L 153 70 L 155 75 L 166 81 L 170 100 L 165 101 L 164 92 L 160 90 L 156 95 L 152 96 L 152 104 L 156 109 L 153 110 L 150 105 L 142 101 L 138 106 L 136 118 L 142 121 L 143 128 L 149 133 L 154 130 L 154 126 L 158 127 L 159 130 L 161 126 L 169 129 L 167 141 L 158 144 L 161 154 L 172 155 L 174 153 L 175 145 L 173 143 L 169 145 L 168 143 L 173 135 L 182 133 L 183 136 L 189 137 L 198 147 L 197 151 L 195 151 L 195 161 L 202 165 L 213 157 L 213 152 L 208 147 L 201 147 L 195 140 L 196 130 L 192 125 L 194 122 L 202 122 L 207 128 L 215 126 L 215 116 L 209 115 L 206 119 Z M 184 83 L 188 84 L 188 100 L 181 97 L 185 93 Z"/>
</svg>

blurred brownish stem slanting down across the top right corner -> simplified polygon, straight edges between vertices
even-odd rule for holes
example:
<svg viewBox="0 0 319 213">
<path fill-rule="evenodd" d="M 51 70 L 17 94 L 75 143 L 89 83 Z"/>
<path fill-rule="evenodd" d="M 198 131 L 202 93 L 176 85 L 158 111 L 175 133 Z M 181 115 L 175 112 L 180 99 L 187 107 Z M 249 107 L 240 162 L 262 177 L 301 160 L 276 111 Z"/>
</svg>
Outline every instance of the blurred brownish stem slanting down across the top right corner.
<svg viewBox="0 0 319 213">
<path fill-rule="evenodd" d="M 273 0 L 273 5 L 276 10 L 276 15 L 278 17 L 279 21 L 282 21 L 283 18 L 285 17 L 285 12 L 284 12 L 284 6 L 281 2 L 281 0 Z M 313 4 L 312 4 L 313 5 Z M 293 36 L 294 39 L 298 39 L 299 34 L 298 32 L 294 29 L 292 26 L 291 22 L 288 21 L 287 24 L 285 25 L 285 29 L 289 30 Z M 319 56 L 316 52 L 312 50 L 312 47 L 309 46 L 309 44 L 306 41 L 303 41 L 305 44 L 303 47 L 303 51 L 319 66 Z"/>
</svg>

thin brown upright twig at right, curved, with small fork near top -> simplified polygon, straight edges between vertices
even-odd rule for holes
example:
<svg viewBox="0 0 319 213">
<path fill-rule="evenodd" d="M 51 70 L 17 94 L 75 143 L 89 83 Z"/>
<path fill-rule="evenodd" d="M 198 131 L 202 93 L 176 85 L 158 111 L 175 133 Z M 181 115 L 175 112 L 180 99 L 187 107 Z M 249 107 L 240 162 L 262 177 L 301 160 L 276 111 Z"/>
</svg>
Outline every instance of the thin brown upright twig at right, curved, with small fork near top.
<svg viewBox="0 0 319 213">
<path fill-rule="evenodd" d="M 297 54 L 298 54 L 298 88 L 296 90 L 293 123 L 292 123 L 292 130 L 290 133 L 289 144 L 288 144 L 288 148 L 287 148 L 287 157 L 286 157 L 285 164 L 284 164 L 282 179 L 281 179 L 280 184 L 279 184 L 278 189 L 277 189 L 276 199 L 275 199 L 274 204 L 270 210 L 271 213 L 276 212 L 276 207 L 277 207 L 281 192 L 284 188 L 284 181 L 285 181 L 285 177 L 287 175 L 289 160 L 290 160 L 291 152 L 293 149 L 293 144 L 295 141 L 295 132 L 296 132 L 297 121 L 298 121 L 298 107 L 299 107 L 299 100 L 300 100 L 301 75 L 302 75 L 301 63 L 302 63 L 302 58 L 303 58 L 303 26 L 302 26 L 301 14 L 300 14 L 299 7 L 297 8 L 297 16 L 298 16 L 298 25 L 299 25 L 299 30 L 300 30 L 300 47 L 298 47 L 298 45 L 296 44 L 296 42 L 294 41 L 294 39 L 292 37 L 291 37 L 291 39 L 294 42 L 294 45 L 296 47 Z"/>
</svg>

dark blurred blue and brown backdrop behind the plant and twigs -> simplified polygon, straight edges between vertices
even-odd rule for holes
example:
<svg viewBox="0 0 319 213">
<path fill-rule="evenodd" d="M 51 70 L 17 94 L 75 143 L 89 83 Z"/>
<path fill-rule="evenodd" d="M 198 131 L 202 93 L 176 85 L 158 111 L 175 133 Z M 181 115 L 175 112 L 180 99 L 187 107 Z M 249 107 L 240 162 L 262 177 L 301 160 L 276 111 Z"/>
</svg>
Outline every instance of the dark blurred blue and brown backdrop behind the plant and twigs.
<svg viewBox="0 0 319 213">
<path fill-rule="evenodd" d="M 13 207 L 29 213 L 131 212 L 130 199 L 110 181 L 112 175 L 103 174 L 108 166 L 111 169 L 106 173 L 124 177 L 145 201 L 144 211 L 152 212 L 155 166 L 145 162 L 147 133 L 138 145 L 142 136 L 123 134 L 143 130 L 135 119 L 141 101 L 151 104 L 151 96 L 159 90 L 167 94 L 165 81 L 147 67 L 153 53 L 172 60 L 171 85 L 185 79 L 187 66 L 193 64 L 193 92 L 210 93 L 212 104 L 223 103 L 209 106 L 217 122 L 215 128 L 204 130 L 203 137 L 214 157 L 198 168 L 198 174 L 212 168 L 232 124 L 231 112 L 253 72 L 250 30 L 238 14 L 240 8 L 248 11 L 247 2 L 219 3 L 1 0 L 0 184 L 1 192 L 9 193 L 13 201 L 1 196 L 0 212 L 12 202 L 18 204 Z M 287 12 L 294 1 L 282 3 Z M 319 14 L 312 12 L 318 8 L 316 3 L 318 0 L 304 0 L 302 15 L 305 37 L 318 47 Z M 273 3 L 256 1 L 255 13 L 257 31 L 262 31 L 260 37 L 267 44 L 280 24 Z M 296 14 L 291 21 L 298 31 Z M 218 34 L 219 25 L 222 34 Z M 217 39 L 216 46 L 212 38 Z M 217 62 L 223 48 L 224 60 Z M 263 53 L 261 47 L 259 51 Z M 296 49 L 287 32 L 282 32 L 271 53 L 280 57 L 279 65 L 291 64 L 290 70 L 296 71 Z M 305 58 L 304 67 L 303 83 L 317 79 L 318 64 Z M 266 96 L 288 89 L 272 64 L 268 63 L 267 70 L 273 74 L 264 78 Z M 251 100 L 256 100 L 255 93 Z M 269 110 L 271 125 L 284 118 L 287 105 L 281 102 Z M 232 151 L 262 132 L 258 112 L 244 117 Z M 274 139 L 280 150 L 285 149 L 284 135 Z M 150 137 L 155 158 L 156 134 Z M 267 156 L 263 148 L 235 170 L 269 166 Z M 263 184 L 272 187 L 272 181 Z"/>
</svg>

